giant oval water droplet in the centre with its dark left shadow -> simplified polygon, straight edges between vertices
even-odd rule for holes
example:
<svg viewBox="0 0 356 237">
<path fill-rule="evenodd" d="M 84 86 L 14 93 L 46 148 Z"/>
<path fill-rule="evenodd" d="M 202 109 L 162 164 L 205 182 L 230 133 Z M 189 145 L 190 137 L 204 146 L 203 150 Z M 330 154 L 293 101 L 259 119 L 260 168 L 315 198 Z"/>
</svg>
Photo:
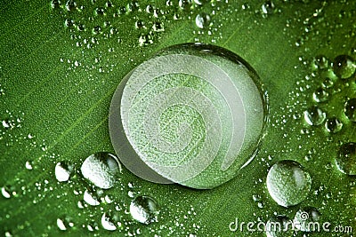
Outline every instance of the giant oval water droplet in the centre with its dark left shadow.
<svg viewBox="0 0 356 237">
<path fill-rule="evenodd" d="M 213 188 L 255 157 L 267 111 L 246 61 L 221 47 L 184 43 L 159 51 L 121 81 L 111 101 L 110 138 L 121 162 L 141 178 Z"/>
</svg>

